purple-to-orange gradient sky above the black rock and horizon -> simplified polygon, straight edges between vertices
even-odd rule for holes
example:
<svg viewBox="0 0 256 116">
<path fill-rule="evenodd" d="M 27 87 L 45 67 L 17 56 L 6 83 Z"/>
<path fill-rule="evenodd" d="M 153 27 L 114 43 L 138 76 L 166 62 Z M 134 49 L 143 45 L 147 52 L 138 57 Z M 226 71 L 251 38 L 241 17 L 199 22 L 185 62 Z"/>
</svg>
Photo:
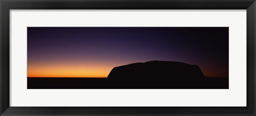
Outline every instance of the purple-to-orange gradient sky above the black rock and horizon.
<svg viewBox="0 0 256 116">
<path fill-rule="evenodd" d="M 228 77 L 228 28 L 28 27 L 28 77 L 107 77 L 151 60 L 198 65 Z"/>
</svg>

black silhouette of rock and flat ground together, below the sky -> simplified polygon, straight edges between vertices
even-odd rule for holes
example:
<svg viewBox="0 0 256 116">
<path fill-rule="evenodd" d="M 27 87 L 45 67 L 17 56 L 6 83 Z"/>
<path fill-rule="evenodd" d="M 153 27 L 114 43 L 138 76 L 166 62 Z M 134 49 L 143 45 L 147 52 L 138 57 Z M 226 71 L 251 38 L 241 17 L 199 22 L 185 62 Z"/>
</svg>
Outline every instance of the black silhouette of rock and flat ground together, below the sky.
<svg viewBox="0 0 256 116">
<path fill-rule="evenodd" d="M 228 77 L 205 77 L 197 65 L 177 61 L 118 66 L 107 78 L 28 78 L 28 89 L 228 89 L 228 85 Z"/>
</svg>

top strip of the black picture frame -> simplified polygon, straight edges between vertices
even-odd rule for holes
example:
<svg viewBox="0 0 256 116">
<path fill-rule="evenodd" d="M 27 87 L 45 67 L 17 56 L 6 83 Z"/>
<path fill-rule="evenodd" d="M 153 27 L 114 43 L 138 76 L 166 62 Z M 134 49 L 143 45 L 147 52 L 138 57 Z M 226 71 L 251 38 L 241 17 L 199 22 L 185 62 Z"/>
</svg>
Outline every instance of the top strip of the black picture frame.
<svg viewBox="0 0 256 116">
<path fill-rule="evenodd" d="M 1 0 L 10 9 L 246 9 L 255 0 Z"/>
</svg>

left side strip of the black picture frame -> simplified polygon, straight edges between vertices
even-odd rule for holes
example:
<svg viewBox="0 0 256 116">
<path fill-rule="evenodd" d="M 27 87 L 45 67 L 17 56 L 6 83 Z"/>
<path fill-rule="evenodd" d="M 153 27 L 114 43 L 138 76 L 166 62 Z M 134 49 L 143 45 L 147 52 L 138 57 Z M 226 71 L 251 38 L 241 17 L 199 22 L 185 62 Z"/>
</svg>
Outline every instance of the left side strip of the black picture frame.
<svg viewBox="0 0 256 116">
<path fill-rule="evenodd" d="M 0 1 L 1 5 L 1 47 L 0 47 L 0 113 L 2 114 L 6 109 L 10 108 L 10 82 L 9 82 L 9 10 L 4 3 Z M 6 39 L 4 39 L 6 38 Z"/>
</svg>

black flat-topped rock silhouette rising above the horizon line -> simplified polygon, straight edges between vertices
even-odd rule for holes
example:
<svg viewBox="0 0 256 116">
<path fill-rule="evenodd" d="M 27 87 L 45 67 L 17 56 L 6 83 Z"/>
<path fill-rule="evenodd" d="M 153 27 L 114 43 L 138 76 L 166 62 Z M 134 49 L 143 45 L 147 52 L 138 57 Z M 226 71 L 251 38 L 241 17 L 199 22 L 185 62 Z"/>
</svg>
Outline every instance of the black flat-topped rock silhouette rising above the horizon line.
<svg viewBox="0 0 256 116">
<path fill-rule="evenodd" d="M 204 74 L 197 65 L 180 63 L 177 61 L 148 61 L 118 66 L 111 70 L 111 79 L 164 79 L 164 78 L 204 78 Z"/>
</svg>

